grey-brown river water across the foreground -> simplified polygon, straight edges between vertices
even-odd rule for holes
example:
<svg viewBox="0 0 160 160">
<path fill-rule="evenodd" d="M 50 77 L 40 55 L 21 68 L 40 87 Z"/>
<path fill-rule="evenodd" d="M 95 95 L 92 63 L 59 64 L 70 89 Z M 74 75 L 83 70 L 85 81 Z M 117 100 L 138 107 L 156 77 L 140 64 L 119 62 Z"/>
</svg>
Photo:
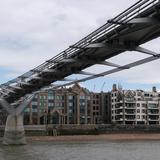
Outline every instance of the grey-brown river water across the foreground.
<svg viewBox="0 0 160 160">
<path fill-rule="evenodd" d="M 160 141 L 0 144 L 0 160 L 159 160 Z"/>
</svg>

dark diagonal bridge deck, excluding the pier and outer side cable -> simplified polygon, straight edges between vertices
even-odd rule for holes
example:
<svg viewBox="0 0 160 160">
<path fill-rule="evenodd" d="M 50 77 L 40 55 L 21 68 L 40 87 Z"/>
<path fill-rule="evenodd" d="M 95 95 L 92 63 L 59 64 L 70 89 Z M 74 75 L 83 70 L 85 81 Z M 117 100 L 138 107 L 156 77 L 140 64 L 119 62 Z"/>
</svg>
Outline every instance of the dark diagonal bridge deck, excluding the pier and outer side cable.
<svg viewBox="0 0 160 160">
<path fill-rule="evenodd" d="M 134 6 L 131 8 L 134 8 Z M 105 24 L 108 27 L 104 28 L 105 25 L 100 27 L 91 35 L 82 39 L 81 43 L 78 42 L 70 46 L 62 52 L 63 54 L 61 53 L 29 71 L 28 74 L 31 73 L 32 76 L 27 77 L 27 74 L 24 74 L 18 77 L 16 86 L 12 86 L 12 84 L 7 87 L 2 86 L 2 90 L 8 89 L 8 94 L 4 98 L 12 103 L 43 86 L 63 80 L 71 74 L 78 74 L 83 69 L 102 63 L 124 51 L 136 51 L 136 48 L 141 44 L 160 36 L 159 8 L 160 4 L 158 2 L 129 20 L 127 18 L 121 20 L 122 17 L 127 17 L 127 15 L 120 14 L 120 18 L 114 18 Z M 111 28 L 111 30 L 106 32 L 108 28 Z"/>
</svg>

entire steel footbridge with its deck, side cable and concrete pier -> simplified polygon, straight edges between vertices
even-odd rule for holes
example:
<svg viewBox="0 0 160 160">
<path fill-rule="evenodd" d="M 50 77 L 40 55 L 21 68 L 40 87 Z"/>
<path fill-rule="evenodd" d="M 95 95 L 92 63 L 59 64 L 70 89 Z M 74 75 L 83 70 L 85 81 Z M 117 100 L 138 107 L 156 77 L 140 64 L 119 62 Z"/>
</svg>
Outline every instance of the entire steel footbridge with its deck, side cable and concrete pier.
<svg viewBox="0 0 160 160">
<path fill-rule="evenodd" d="M 4 143 L 25 142 L 21 113 L 32 98 L 30 94 L 50 84 L 52 88 L 58 88 L 157 60 L 160 58 L 159 53 L 145 49 L 141 45 L 159 36 L 160 0 L 140 0 L 57 56 L 1 84 L 1 105 L 9 113 Z M 125 51 L 138 51 L 147 54 L 148 57 L 124 65 L 107 61 Z M 83 71 L 94 64 L 111 66 L 114 69 L 97 74 Z M 88 76 L 78 80 L 68 79 L 67 77 L 72 74 Z M 54 84 L 57 81 L 65 83 L 57 86 Z M 18 137 L 16 140 L 15 136 Z"/>
</svg>

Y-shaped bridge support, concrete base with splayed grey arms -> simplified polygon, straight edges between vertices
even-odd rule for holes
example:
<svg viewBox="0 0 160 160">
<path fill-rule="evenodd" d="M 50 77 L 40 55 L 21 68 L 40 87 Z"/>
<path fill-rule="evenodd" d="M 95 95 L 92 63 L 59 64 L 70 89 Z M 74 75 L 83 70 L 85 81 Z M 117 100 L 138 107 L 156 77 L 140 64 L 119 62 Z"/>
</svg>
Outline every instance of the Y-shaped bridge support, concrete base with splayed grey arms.
<svg viewBox="0 0 160 160">
<path fill-rule="evenodd" d="M 33 96 L 32 96 L 33 97 Z M 4 99 L 0 99 L 0 104 L 9 113 L 7 117 L 3 144 L 24 145 L 26 144 L 25 131 L 23 126 L 23 110 L 31 101 L 31 97 L 25 100 L 18 107 L 8 104 Z"/>
</svg>

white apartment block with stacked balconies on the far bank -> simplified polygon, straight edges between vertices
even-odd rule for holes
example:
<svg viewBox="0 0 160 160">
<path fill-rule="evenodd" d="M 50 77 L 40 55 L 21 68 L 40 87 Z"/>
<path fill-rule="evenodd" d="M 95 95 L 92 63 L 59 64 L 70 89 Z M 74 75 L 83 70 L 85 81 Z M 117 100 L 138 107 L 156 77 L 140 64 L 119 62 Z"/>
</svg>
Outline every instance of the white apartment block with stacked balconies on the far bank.
<svg viewBox="0 0 160 160">
<path fill-rule="evenodd" d="M 153 87 L 151 92 L 142 90 L 111 91 L 112 123 L 160 124 L 160 93 Z"/>
</svg>

